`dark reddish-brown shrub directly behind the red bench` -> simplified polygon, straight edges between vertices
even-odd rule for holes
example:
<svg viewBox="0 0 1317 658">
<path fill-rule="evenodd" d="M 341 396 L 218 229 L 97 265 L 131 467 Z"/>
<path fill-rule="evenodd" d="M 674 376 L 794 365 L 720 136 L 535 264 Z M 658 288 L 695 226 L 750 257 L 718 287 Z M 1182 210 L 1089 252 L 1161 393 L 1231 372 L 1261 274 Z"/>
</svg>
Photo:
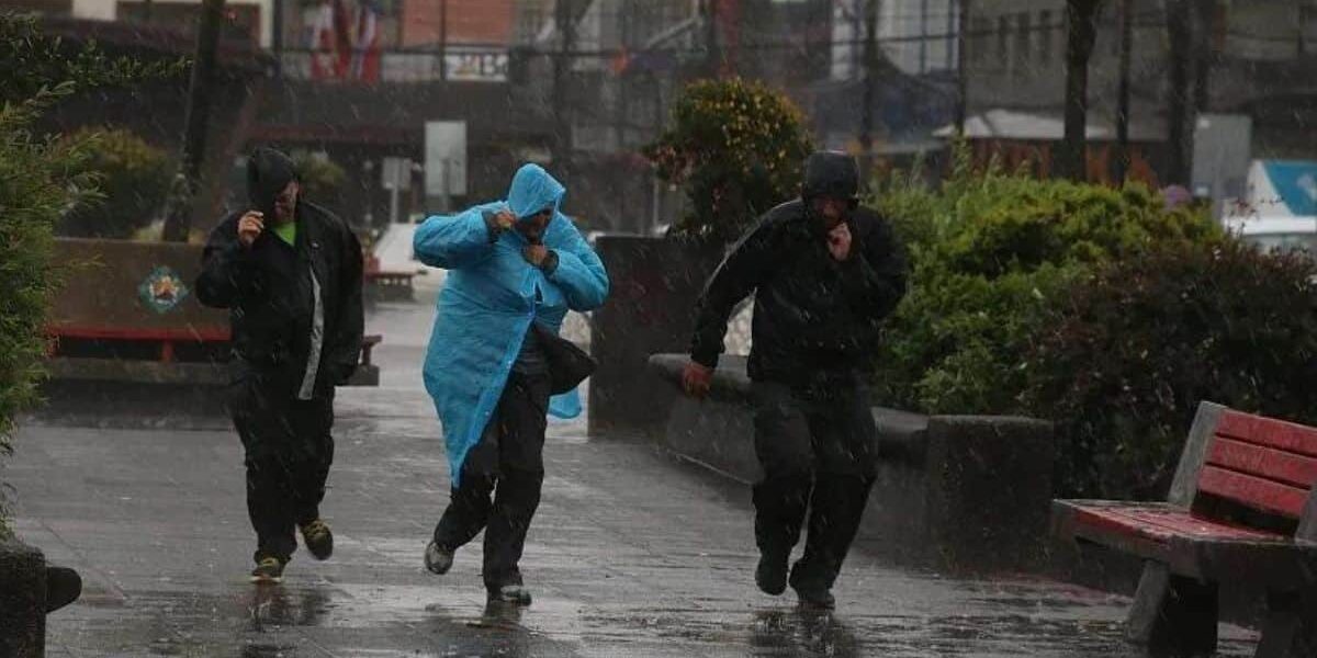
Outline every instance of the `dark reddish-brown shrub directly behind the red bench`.
<svg viewBox="0 0 1317 658">
<path fill-rule="evenodd" d="M 1226 241 L 1108 263 L 1050 308 L 1027 409 L 1069 495 L 1166 495 L 1201 400 L 1317 421 L 1317 265 Z"/>
</svg>

